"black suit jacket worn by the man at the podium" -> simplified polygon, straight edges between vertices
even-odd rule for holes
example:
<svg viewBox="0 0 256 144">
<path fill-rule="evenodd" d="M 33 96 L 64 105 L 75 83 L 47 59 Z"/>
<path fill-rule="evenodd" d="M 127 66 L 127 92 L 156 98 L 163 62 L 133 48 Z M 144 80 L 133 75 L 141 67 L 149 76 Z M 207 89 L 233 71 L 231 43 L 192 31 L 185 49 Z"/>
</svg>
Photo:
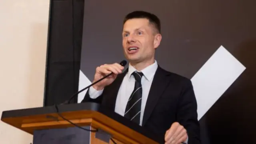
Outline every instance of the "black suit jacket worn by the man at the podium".
<svg viewBox="0 0 256 144">
<path fill-rule="evenodd" d="M 114 111 L 118 90 L 127 71 L 106 86 L 101 96 L 91 99 L 87 92 L 82 102 L 97 102 Z M 187 130 L 188 144 L 200 144 L 197 102 L 191 81 L 158 66 L 146 102 L 142 126 L 164 138 L 173 122 L 179 122 Z"/>
</svg>

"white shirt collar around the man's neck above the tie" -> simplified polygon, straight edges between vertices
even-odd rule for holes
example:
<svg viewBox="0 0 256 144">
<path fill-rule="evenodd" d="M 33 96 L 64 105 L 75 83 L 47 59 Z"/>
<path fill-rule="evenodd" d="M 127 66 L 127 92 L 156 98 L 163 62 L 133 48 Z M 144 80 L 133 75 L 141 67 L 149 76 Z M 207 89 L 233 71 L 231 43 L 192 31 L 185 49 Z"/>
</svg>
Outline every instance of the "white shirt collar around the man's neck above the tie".
<svg viewBox="0 0 256 144">
<path fill-rule="evenodd" d="M 134 71 L 142 72 L 143 75 L 145 76 L 146 80 L 150 81 L 153 77 L 154 74 L 156 73 L 156 69 L 158 68 L 158 64 L 155 60 L 154 64 L 151 64 L 150 66 L 144 68 L 141 71 L 136 70 L 130 63 L 129 63 L 129 68 L 128 68 L 128 78 L 130 80 L 130 76 Z"/>
</svg>

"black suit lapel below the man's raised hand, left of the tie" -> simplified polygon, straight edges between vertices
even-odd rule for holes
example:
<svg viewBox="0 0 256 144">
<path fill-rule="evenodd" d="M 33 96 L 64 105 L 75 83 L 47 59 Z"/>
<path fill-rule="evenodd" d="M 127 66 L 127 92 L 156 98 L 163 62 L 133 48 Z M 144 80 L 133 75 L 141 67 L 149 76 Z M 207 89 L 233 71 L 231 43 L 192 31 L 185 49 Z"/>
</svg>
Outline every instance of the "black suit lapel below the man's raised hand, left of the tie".
<svg viewBox="0 0 256 144">
<path fill-rule="evenodd" d="M 108 90 L 110 90 L 108 92 L 108 107 L 110 110 L 115 110 L 117 94 L 127 72 L 128 68 L 122 74 L 118 74 L 116 80 L 114 80 L 114 82 L 110 85 L 110 88 L 108 88 Z"/>
</svg>

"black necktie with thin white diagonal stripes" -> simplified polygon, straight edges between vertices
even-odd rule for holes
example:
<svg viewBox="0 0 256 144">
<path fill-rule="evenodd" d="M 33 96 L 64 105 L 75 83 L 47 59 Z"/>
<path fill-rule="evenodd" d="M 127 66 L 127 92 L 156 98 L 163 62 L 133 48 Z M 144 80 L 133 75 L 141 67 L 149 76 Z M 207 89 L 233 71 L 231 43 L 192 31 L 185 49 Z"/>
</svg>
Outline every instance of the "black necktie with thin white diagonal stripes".
<svg viewBox="0 0 256 144">
<path fill-rule="evenodd" d="M 142 72 L 133 72 L 132 75 L 135 78 L 134 90 L 126 105 L 124 117 L 130 119 L 132 122 L 140 124 L 140 109 L 142 100 L 142 85 L 141 78 Z"/>
</svg>

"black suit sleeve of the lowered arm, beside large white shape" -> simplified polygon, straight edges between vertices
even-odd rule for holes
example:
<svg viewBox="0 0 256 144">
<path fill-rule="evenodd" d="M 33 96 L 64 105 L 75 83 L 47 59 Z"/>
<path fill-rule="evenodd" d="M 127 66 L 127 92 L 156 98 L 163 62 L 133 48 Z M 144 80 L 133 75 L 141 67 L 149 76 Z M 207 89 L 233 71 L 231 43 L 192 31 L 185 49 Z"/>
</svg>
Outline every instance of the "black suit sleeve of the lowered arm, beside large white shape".
<svg viewBox="0 0 256 144">
<path fill-rule="evenodd" d="M 177 109 L 178 122 L 188 134 L 188 144 L 200 144 L 200 125 L 198 122 L 197 102 L 192 82 L 185 80 Z"/>
</svg>

